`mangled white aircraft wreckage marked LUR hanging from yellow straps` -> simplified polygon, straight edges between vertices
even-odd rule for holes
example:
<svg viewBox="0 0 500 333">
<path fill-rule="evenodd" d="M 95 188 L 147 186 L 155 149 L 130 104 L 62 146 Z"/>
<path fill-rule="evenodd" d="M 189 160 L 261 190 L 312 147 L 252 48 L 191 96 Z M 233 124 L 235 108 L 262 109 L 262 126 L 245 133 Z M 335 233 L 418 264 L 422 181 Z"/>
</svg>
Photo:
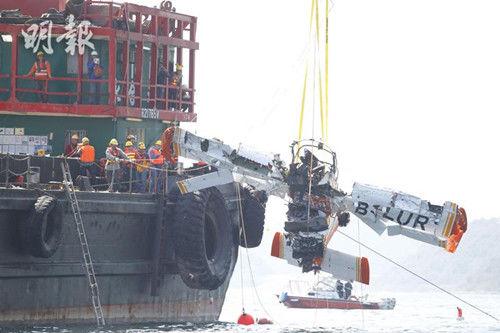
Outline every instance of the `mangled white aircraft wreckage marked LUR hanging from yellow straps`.
<svg viewBox="0 0 500 333">
<path fill-rule="evenodd" d="M 327 248 L 337 228 L 348 225 L 350 214 L 379 235 L 387 231 L 388 236 L 403 235 L 448 252 L 455 252 L 467 230 L 465 210 L 452 202 L 434 205 L 409 194 L 358 183 L 351 194 L 343 192 L 337 184 L 336 154 L 322 142 L 294 142 L 288 166 L 279 155 L 245 146 L 234 149 L 179 127 L 168 128 L 162 142 L 163 153 L 171 162 L 182 156 L 211 166 L 210 172 L 178 181 L 182 194 L 240 183 L 261 198 L 262 204 L 268 195 L 288 196 L 284 233 L 275 234 L 271 255 L 303 272 L 321 270 L 339 279 L 369 283 L 367 258 Z"/>
</svg>

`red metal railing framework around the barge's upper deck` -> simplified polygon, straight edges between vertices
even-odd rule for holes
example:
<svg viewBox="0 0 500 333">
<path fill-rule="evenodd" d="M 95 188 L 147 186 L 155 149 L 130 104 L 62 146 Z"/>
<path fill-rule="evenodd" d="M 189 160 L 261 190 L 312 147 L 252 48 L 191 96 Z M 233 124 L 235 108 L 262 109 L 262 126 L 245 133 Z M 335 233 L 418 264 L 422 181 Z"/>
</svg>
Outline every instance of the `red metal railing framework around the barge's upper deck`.
<svg viewBox="0 0 500 333">
<path fill-rule="evenodd" d="M 134 20 L 130 20 L 133 16 L 135 16 Z M 104 23 L 100 25 L 93 22 L 92 28 L 96 37 L 101 36 L 109 41 L 109 68 L 107 69 L 109 78 L 99 80 L 84 78 L 83 56 L 81 55 L 78 60 L 79 74 L 76 74 L 75 77 L 52 77 L 43 89 L 38 87 L 32 77 L 0 74 L 0 92 L 2 93 L 2 101 L 0 102 L 4 110 L 141 118 L 144 117 L 141 115 L 141 111 L 144 110 L 141 109 L 148 108 L 160 111 L 159 118 L 162 120 L 195 121 L 194 51 L 199 47 L 196 42 L 196 17 L 175 13 L 168 9 L 148 8 L 128 3 L 117 4 L 113 1 L 102 0 L 84 1 L 82 17 L 91 21 L 101 20 L 101 23 Z M 124 31 L 123 26 L 117 27 L 116 23 L 120 20 L 126 22 L 127 29 L 130 24 L 133 24 L 137 28 L 134 29 L 136 32 Z M 19 69 L 18 55 L 15 50 L 21 46 L 21 42 L 18 41 L 23 28 L 22 25 L 0 24 L 0 31 L 12 36 L 11 50 L 8 51 L 12 55 L 11 73 L 17 73 Z M 189 37 L 184 36 L 184 31 L 189 31 Z M 53 32 L 56 34 L 64 33 L 64 27 L 54 25 Z M 117 45 L 120 42 L 126 46 L 124 51 L 124 64 L 126 63 L 126 65 L 124 70 L 119 71 L 117 68 L 117 57 L 119 56 Z M 132 51 L 129 51 L 128 48 L 131 43 L 137 43 L 141 46 L 145 42 L 153 44 L 152 50 L 154 49 L 151 53 L 151 68 L 147 73 L 150 78 L 144 81 L 115 78 L 129 77 L 128 72 L 131 68 L 128 54 Z M 174 59 L 169 58 L 168 53 L 165 52 L 168 47 L 175 47 L 177 53 Z M 188 68 L 186 72 L 188 73 L 186 73 L 185 78 L 188 87 L 156 84 L 161 48 L 164 50 L 162 56 L 164 62 L 186 64 Z M 189 50 L 188 59 L 183 59 L 183 50 L 186 49 Z M 135 60 L 141 64 L 142 50 L 142 47 L 139 47 L 134 51 L 136 52 Z M 184 58 L 186 57 L 184 56 Z M 142 66 L 137 66 L 134 70 L 134 76 L 142 78 L 142 74 Z M 97 93 L 89 91 L 89 86 L 92 83 L 101 84 L 101 90 L 98 93 L 100 97 L 99 108 L 83 106 L 91 104 L 90 100 L 93 99 L 91 97 L 97 95 Z M 129 94 L 129 89 L 135 90 L 132 96 Z M 48 96 L 49 105 L 40 105 L 38 99 L 27 97 L 28 94 Z M 74 104 L 77 105 L 74 106 Z M 114 112 L 110 113 L 109 109 L 114 109 Z M 106 112 L 103 113 L 103 110 Z"/>
</svg>

